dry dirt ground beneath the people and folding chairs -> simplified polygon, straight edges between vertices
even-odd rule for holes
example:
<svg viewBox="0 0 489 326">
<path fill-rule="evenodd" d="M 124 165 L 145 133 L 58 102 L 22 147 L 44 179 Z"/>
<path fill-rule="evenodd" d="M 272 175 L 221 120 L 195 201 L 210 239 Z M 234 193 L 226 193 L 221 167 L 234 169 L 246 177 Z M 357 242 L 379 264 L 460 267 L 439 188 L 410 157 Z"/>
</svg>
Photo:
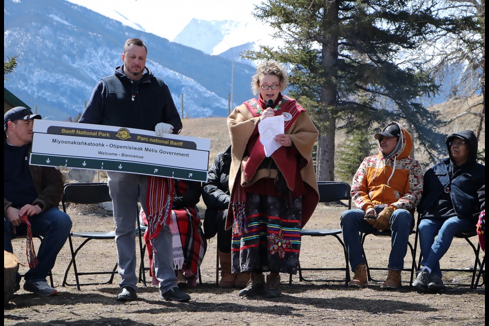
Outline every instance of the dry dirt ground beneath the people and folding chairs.
<svg viewBox="0 0 489 326">
<path fill-rule="evenodd" d="M 199 206 L 202 202 L 199 204 Z M 202 207 L 203 209 L 203 207 Z M 342 206 L 319 205 L 307 228 L 338 228 Z M 111 230 L 112 212 L 96 207 L 68 208 L 76 230 Z M 414 235 L 411 236 L 414 241 Z M 475 240 L 475 239 L 474 239 Z M 79 239 L 74 239 L 79 244 Z M 166 302 L 159 299 L 156 286 L 138 284 L 138 301 L 119 303 L 115 300 L 120 280 L 113 284 L 61 286 L 70 260 L 68 242 L 52 270 L 58 295 L 37 297 L 23 289 L 15 293 L 4 307 L 4 325 L 22 326 L 162 326 L 162 325 L 483 325 L 485 324 L 485 286 L 470 290 L 452 283 L 470 282 L 469 273 L 444 275 L 448 289 L 441 294 L 419 294 L 409 289 L 410 273 L 403 272 L 403 288 L 399 291 L 381 289 L 385 271 L 372 271 L 378 282 L 369 282 L 362 290 L 347 289 L 341 282 L 300 282 L 293 276 L 282 275 L 283 295 L 279 298 L 242 298 L 237 289 L 221 289 L 215 285 L 215 238 L 208 242 L 208 250 L 201 266 L 202 285 L 189 289 L 188 303 Z M 370 266 L 387 265 L 390 240 L 385 237 L 367 237 L 365 249 Z M 25 239 L 14 240 L 17 257 L 26 263 Z M 79 270 L 109 270 L 116 262 L 113 240 L 91 241 L 80 253 Z M 455 239 L 442 260 L 443 266 L 467 268 L 473 264 L 473 255 L 463 239 Z M 411 264 L 408 253 L 405 266 Z M 147 264 L 147 258 L 146 258 Z M 301 251 L 302 267 L 344 266 L 343 251 L 333 237 L 304 237 Z M 25 267 L 21 267 L 21 271 Z M 306 273 L 306 272 L 305 272 Z M 323 272 L 324 273 L 324 272 Z M 329 271 L 328 278 L 344 278 L 344 271 Z M 305 274 L 306 276 L 306 274 Z M 307 277 L 317 279 L 317 272 Z M 149 275 L 147 274 L 147 278 Z M 85 276 L 83 280 L 106 280 L 106 276 Z M 74 282 L 73 274 L 68 276 Z M 23 281 L 21 285 L 23 284 Z"/>
</svg>

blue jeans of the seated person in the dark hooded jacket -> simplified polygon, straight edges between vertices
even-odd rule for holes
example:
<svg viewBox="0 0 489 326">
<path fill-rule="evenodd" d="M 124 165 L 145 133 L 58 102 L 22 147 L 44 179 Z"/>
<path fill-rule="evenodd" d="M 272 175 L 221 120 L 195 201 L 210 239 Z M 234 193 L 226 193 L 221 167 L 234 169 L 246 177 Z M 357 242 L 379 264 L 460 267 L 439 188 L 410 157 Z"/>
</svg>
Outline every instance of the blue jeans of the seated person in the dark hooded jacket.
<svg viewBox="0 0 489 326">
<path fill-rule="evenodd" d="M 421 265 L 431 268 L 431 274 L 442 277 L 440 259 L 446 254 L 455 234 L 474 231 L 475 226 L 468 220 L 456 216 L 448 220 L 423 219 L 419 223 L 419 247 L 421 248 Z"/>
</svg>

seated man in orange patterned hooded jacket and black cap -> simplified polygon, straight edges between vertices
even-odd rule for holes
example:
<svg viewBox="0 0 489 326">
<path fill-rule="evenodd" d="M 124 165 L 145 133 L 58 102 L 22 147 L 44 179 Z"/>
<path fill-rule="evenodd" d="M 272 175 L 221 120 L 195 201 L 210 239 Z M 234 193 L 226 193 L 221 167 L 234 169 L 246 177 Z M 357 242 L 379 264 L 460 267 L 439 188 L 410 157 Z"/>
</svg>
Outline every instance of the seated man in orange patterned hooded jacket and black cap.
<svg viewBox="0 0 489 326">
<path fill-rule="evenodd" d="M 348 287 L 367 286 L 360 232 L 390 229 L 389 271 L 383 287 L 398 289 L 409 234 L 414 228 L 413 213 L 421 199 L 423 172 L 419 162 L 409 157 L 413 149 L 411 136 L 399 123 L 389 123 L 374 137 L 379 153 L 365 157 L 351 183 L 351 199 L 357 209 L 341 215 L 343 239 L 355 272 Z"/>
</svg>

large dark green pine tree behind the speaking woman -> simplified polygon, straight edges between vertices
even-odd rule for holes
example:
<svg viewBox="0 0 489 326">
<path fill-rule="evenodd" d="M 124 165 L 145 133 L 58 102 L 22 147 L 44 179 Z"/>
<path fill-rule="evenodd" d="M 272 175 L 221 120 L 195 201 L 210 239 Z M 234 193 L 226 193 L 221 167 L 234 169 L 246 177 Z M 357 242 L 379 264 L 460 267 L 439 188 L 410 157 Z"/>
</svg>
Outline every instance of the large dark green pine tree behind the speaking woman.
<svg viewBox="0 0 489 326">
<path fill-rule="evenodd" d="M 436 0 L 267 0 L 255 17 L 269 23 L 283 46 L 244 54 L 291 67 L 291 96 L 308 108 L 320 135 L 318 180 L 334 180 L 335 132 L 402 121 L 434 161 L 443 135 L 421 97 L 438 86 L 411 51 L 440 26 Z M 377 128 L 377 127 L 375 127 Z"/>
</svg>

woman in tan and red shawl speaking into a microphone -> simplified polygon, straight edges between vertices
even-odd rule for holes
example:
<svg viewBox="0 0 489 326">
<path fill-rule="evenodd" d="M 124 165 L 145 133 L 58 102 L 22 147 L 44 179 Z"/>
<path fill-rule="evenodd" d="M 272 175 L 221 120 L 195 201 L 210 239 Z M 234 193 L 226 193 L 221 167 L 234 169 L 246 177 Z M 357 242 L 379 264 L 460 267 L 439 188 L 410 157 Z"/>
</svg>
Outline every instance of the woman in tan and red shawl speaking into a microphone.
<svg viewBox="0 0 489 326">
<path fill-rule="evenodd" d="M 226 229 L 232 228 L 231 271 L 251 272 L 240 296 L 281 295 L 279 273 L 297 273 L 301 229 L 319 199 L 311 154 L 318 131 L 305 108 L 282 95 L 287 85 L 280 63 L 262 62 L 251 83 L 258 98 L 237 106 L 227 119 L 232 149 L 226 219 Z M 266 140 L 260 140 L 259 124 L 281 115 L 284 133 L 267 140 L 278 147 L 270 154 L 262 144 Z"/>
</svg>

